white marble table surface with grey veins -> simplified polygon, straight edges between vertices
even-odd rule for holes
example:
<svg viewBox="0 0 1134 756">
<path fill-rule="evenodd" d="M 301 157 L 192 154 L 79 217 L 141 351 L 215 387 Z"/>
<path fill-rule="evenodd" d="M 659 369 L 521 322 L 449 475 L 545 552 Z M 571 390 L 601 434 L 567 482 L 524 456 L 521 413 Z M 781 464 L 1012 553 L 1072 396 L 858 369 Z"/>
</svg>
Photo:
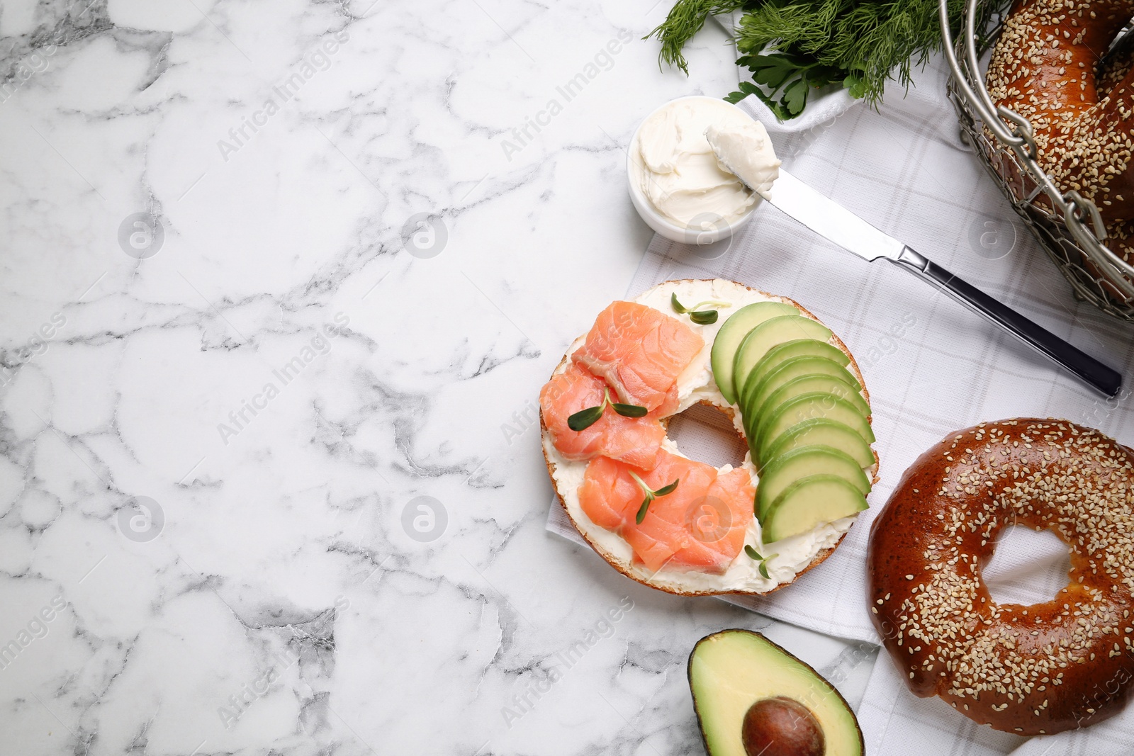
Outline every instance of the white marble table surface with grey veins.
<svg viewBox="0 0 1134 756">
<path fill-rule="evenodd" d="M 623 145 L 723 34 L 686 78 L 653 0 L 87 1 L 0 9 L 0 753 L 700 753 L 723 627 L 861 697 L 872 649 L 544 532 Z"/>
</svg>

